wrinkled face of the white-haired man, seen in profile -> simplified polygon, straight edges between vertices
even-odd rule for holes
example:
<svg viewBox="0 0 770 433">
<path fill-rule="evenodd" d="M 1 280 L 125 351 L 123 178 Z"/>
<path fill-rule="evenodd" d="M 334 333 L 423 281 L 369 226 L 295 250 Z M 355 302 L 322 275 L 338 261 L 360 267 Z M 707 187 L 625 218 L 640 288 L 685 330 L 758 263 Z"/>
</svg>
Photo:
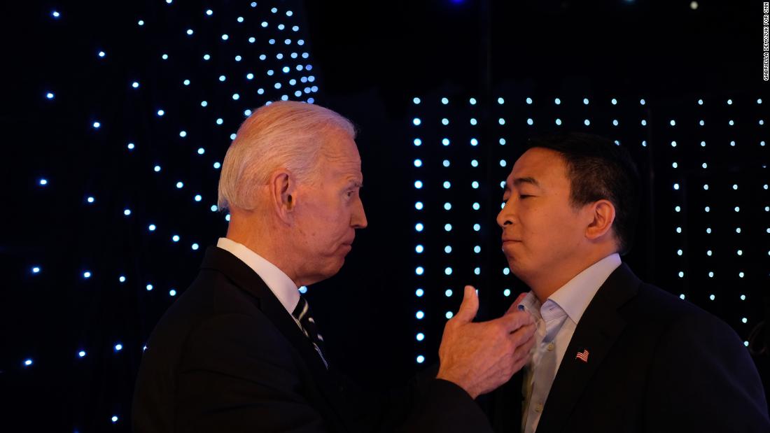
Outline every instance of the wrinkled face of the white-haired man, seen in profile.
<svg viewBox="0 0 770 433">
<path fill-rule="evenodd" d="M 357 228 L 367 226 L 359 195 L 363 182 L 356 142 L 346 133 L 326 134 L 320 174 L 297 187 L 294 211 L 295 244 L 303 257 L 299 275 L 305 284 L 340 271 Z"/>
</svg>

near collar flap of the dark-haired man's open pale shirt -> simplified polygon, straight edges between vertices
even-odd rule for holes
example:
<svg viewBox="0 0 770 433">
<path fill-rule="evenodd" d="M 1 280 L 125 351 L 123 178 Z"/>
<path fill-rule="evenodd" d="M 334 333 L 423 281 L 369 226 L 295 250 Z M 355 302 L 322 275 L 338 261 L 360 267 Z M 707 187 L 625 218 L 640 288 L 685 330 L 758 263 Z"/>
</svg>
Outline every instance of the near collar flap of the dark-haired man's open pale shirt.
<svg viewBox="0 0 770 433">
<path fill-rule="evenodd" d="M 559 305 L 577 323 L 601 285 L 620 265 L 621 256 L 618 253 L 608 255 L 575 275 L 548 299 Z"/>
</svg>

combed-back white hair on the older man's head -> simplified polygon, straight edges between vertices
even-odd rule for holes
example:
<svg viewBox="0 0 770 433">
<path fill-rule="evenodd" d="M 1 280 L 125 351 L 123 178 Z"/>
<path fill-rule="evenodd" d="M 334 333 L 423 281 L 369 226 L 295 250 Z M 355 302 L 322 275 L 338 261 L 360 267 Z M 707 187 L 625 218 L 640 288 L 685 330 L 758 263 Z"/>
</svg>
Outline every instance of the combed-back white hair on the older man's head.
<svg viewBox="0 0 770 433">
<path fill-rule="evenodd" d="M 276 168 L 288 169 L 298 182 L 311 181 L 330 129 L 356 137 L 348 119 L 320 105 L 278 101 L 256 109 L 227 149 L 219 176 L 219 210 L 255 208 L 256 188 L 266 185 Z"/>
</svg>

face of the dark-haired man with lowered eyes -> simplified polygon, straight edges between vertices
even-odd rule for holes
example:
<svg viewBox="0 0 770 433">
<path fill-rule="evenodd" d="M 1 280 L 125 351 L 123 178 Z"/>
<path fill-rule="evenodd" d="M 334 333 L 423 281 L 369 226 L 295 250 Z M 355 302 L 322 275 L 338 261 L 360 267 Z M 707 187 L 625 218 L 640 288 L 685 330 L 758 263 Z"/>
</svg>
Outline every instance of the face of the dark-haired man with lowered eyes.
<svg viewBox="0 0 770 433">
<path fill-rule="evenodd" d="M 567 166 L 559 153 L 532 148 L 508 175 L 497 215 L 508 266 L 527 284 L 581 254 L 585 219 L 570 203 Z"/>
</svg>

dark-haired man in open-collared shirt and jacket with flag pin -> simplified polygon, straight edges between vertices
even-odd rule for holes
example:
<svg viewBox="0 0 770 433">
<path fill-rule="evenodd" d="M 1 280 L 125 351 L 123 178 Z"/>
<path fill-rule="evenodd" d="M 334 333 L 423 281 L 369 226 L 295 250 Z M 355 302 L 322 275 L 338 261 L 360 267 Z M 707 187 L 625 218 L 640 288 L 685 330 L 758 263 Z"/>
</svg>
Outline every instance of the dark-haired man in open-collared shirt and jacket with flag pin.
<svg viewBox="0 0 770 433">
<path fill-rule="evenodd" d="M 640 281 L 631 248 L 638 174 L 588 134 L 533 139 L 506 181 L 508 265 L 531 291 L 531 361 L 495 391 L 496 431 L 770 431 L 757 371 L 735 331 Z"/>
</svg>

